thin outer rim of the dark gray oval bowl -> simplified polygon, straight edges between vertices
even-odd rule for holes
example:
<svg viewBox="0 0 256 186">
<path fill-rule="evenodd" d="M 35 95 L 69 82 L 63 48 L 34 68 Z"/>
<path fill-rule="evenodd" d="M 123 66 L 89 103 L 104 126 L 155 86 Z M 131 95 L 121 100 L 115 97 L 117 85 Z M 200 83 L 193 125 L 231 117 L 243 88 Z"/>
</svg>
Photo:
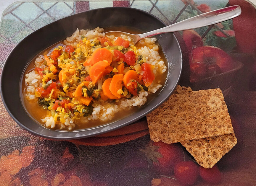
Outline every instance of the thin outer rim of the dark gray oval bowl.
<svg viewBox="0 0 256 186">
<path fill-rule="evenodd" d="M 165 22 L 163 22 L 161 19 L 159 19 L 158 17 L 156 17 L 155 15 L 153 15 L 153 14 L 151 14 L 151 13 L 149 13 L 149 12 L 146 12 L 146 11 L 141 10 L 141 9 L 136 9 L 136 8 L 132 8 L 132 7 L 123 7 L 123 6 L 104 7 L 104 8 L 98 8 L 98 9 L 91 9 L 91 10 L 87 10 L 87 11 L 83 11 L 83 12 L 78 12 L 78 13 L 75 13 L 75 14 L 72 14 L 72 15 L 69 15 L 69 16 L 66 16 L 66 17 L 74 16 L 74 15 L 76 15 L 76 14 L 83 14 L 84 12 L 91 12 L 91 11 L 96 11 L 96 10 L 101 10 L 101 9 L 117 9 L 117 8 L 119 8 L 119 9 L 122 8 L 122 9 L 133 9 L 133 10 L 136 10 L 136 11 L 138 11 L 138 12 L 147 14 L 148 16 L 154 17 L 154 19 L 157 19 L 157 20 L 160 21 L 163 25 L 167 26 L 167 24 L 166 24 Z M 64 18 L 66 18 L 66 17 L 62 17 L 62 18 L 60 18 L 60 19 L 64 19 Z M 55 20 L 55 21 L 53 21 L 53 22 L 50 22 L 50 23 L 47 24 L 47 25 L 53 24 L 53 23 L 59 21 L 60 19 L 57 19 L 57 20 Z M 96 135 L 99 135 L 99 134 L 102 134 L 102 133 L 110 132 L 110 131 L 112 131 L 112 130 L 117 130 L 118 128 L 121 128 L 121 127 L 124 127 L 124 126 L 126 126 L 126 125 L 128 125 L 128 124 L 134 123 L 135 121 L 137 121 L 137 120 L 143 118 L 144 116 L 146 116 L 147 114 L 149 114 L 150 112 L 152 112 L 153 110 L 155 110 L 157 107 L 159 107 L 163 102 L 165 102 L 165 101 L 170 97 L 170 95 L 173 93 L 173 91 L 175 90 L 175 88 L 176 88 L 177 85 L 178 85 L 178 82 L 179 82 L 180 77 L 181 77 L 182 66 L 183 66 L 183 57 L 182 57 L 182 51 L 181 51 L 180 43 L 178 42 L 178 39 L 177 39 L 177 37 L 175 36 L 175 34 L 174 34 L 173 32 L 171 32 L 171 34 L 173 35 L 174 40 L 175 40 L 176 43 L 178 44 L 178 48 L 179 48 L 179 51 L 180 51 L 180 56 L 181 56 L 181 69 L 180 69 L 180 72 L 179 72 L 179 75 L 178 75 L 178 79 L 177 79 L 177 81 L 176 81 L 176 83 L 175 83 L 175 86 L 174 86 L 175 88 L 168 94 L 168 96 L 166 96 L 164 99 L 162 99 L 162 101 L 160 101 L 159 103 L 157 103 L 156 105 L 154 105 L 154 107 L 151 107 L 148 111 L 144 112 L 143 115 L 140 115 L 140 116 L 138 116 L 138 117 L 136 117 L 136 118 L 133 118 L 133 119 L 130 120 L 129 122 L 124 122 L 123 124 L 120 124 L 120 125 L 118 125 L 118 126 L 116 126 L 116 127 L 109 128 L 109 129 L 106 129 L 106 130 L 104 130 L 104 131 L 98 131 L 96 134 L 91 133 L 91 134 L 84 134 L 84 135 L 80 135 L 80 136 L 59 137 L 59 136 L 49 136 L 49 135 L 44 135 L 44 134 L 38 133 L 38 132 L 36 132 L 36 131 L 34 131 L 34 130 L 28 128 L 27 126 L 23 125 L 23 124 L 12 114 L 12 112 L 9 110 L 9 107 L 7 107 L 6 100 L 5 100 L 4 96 L 3 96 L 2 82 L 4 81 L 4 79 L 3 79 L 3 71 L 4 71 L 4 69 L 6 68 L 7 61 L 8 61 L 8 59 L 9 59 L 10 55 L 12 54 L 13 50 L 15 50 L 16 48 L 18 48 L 18 47 L 19 47 L 19 44 L 22 43 L 24 40 L 26 40 L 27 37 L 29 37 L 30 35 L 34 34 L 34 32 L 37 32 L 38 30 L 42 29 L 43 27 L 46 27 L 47 25 L 44 25 L 44 26 L 38 28 L 37 30 L 31 32 L 29 35 L 27 35 L 26 37 L 24 37 L 22 40 L 19 41 L 19 43 L 17 43 L 17 44 L 15 45 L 15 47 L 10 51 L 9 55 L 7 56 L 6 60 L 4 61 L 4 65 L 3 65 L 3 67 L 2 67 L 1 76 L 0 76 L 0 95 L 1 95 L 2 102 L 3 102 L 3 104 L 4 104 L 4 107 L 6 108 L 7 112 L 8 112 L 9 115 L 11 116 L 11 118 L 12 118 L 19 126 L 21 126 L 22 128 L 24 128 L 25 130 L 27 130 L 27 131 L 30 132 L 30 133 L 33 133 L 33 134 L 35 134 L 35 135 L 37 135 L 37 136 L 44 137 L 44 138 L 48 138 L 48 139 L 55 139 L 55 140 L 67 140 L 67 139 L 68 139 L 68 140 L 70 140 L 70 139 L 80 139 L 80 138 L 92 137 L 92 136 L 96 136 Z M 65 38 L 64 38 L 64 39 L 65 39 Z M 28 65 L 28 64 L 27 64 L 27 65 Z M 26 65 L 26 66 L 27 66 L 27 65 Z M 24 70 L 24 69 L 23 69 L 23 70 Z M 20 78 L 22 78 L 22 77 L 20 77 Z M 19 84 L 19 86 L 20 86 L 20 84 Z M 19 93 L 19 94 L 20 94 L 20 93 Z M 161 94 L 161 93 L 159 93 L 159 94 Z M 21 102 L 22 102 L 22 101 L 21 101 Z M 22 107 L 22 109 L 24 109 L 24 108 Z M 25 110 L 25 112 L 27 112 L 27 111 Z M 28 114 L 28 113 L 27 113 L 27 114 Z M 31 120 L 33 120 L 33 119 L 31 118 L 31 116 L 29 116 L 29 117 L 30 117 Z M 128 117 L 128 116 L 127 116 L 127 117 Z M 122 120 L 122 119 L 121 119 L 121 120 Z M 117 120 L 117 121 L 118 121 L 118 120 Z M 113 121 L 113 122 L 116 122 L 116 121 Z M 110 122 L 110 123 L 113 123 L 113 122 Z M 38 125 L 39 125 L 39 123 L 38 123 Z M 103 126 L 103 125 L 100 125 L 100 126 Z M 100 127 L 100 126 L 96 126 L 96 127 L 93 127 L 93 128 L 97 128 L 97 127 Z M 48 128 L 46 128 L 46 129 L 48 129 Z M 52 129 L 49 129 L 49 130 L 52 130 Z M 83 130 L 84 130 L 84 129 L 83 129 Z M 76 130 L 75 130 L 75 131 L 76 131 Z M 75 132 L 75 131 L 61 131 L 61 132 Z"/>
</svg>

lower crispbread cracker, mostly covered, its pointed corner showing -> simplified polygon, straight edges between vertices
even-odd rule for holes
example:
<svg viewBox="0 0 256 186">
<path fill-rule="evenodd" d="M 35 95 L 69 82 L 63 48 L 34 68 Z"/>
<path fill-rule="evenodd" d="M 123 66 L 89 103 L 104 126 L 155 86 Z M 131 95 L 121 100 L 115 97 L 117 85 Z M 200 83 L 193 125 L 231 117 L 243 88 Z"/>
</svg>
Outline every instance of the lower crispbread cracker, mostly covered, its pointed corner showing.
<svg viewBox="0 0 256 186">
<path fill-rule="evenodd" d="M 194 156 L 197 163 L 206 169 L 212 168 L 236 143 L 234 133 L 192 141 L 181 141 L 181 144 Z"/>
</svg>

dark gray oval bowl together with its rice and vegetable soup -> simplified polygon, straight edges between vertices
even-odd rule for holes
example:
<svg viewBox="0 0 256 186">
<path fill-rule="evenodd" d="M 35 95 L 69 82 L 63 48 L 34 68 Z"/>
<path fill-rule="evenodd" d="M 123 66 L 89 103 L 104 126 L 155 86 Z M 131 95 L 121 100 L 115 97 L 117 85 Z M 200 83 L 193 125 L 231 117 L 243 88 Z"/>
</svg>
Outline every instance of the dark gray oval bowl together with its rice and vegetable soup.
<svg viewBox="0 0 256 186">
<path fill-rule="evenodd" d="M 133 123 L 176 88 L 181 50 L 173 33 L 134 45 L 125 35 L 104 32 L 164 26 L 147 12 L 111 7 L 36 30 L 17 44 L 2 69 L 7 111 L 31 133 L 54 139 L 94 136 Z"/>
</svg>

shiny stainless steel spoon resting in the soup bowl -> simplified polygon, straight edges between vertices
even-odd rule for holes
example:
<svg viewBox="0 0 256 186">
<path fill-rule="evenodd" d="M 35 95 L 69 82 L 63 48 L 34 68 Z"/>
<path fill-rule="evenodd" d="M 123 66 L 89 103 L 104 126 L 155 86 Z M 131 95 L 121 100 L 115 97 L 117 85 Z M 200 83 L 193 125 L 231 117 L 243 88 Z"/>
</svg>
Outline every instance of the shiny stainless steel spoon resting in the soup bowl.
<svg viewBox="0 0 256 186">
<path fill-rule="evenodd" d="M 204 14 L 200 14 L 189 19 L 185 19 L 183 21 L 177 22 L 173 25 L 169 25 L 167 27 L 163 27 L 157 30 L 153 30 L 150 32 L 146 32 L 143 34 L 130 34 L 127 32 L 121 31 L 110 31 L 106 32 L 107 35 L 110 35 L 112 32 L 118 32 L 121 34 L 125 34 L 130 36 L 133 39 L 134 44 L 136 44 L 139 40 L 142 40 L 146 37 L 151 37 L 158 34 L 163 34 L 166 32 L 177 32 L 181 30 L 190 30 L 200 27 L 205 27 L 209 25 L 214 25 L 216 23 L 220 23 L 226 21 L 228 19 L 233 19 L 241 14 L 241 8 L 238 5 L 228 6 L 225 8 L 221 8 L 218 10 L 213 10 L 211 12 L 206 12 Z"/>
</svg>

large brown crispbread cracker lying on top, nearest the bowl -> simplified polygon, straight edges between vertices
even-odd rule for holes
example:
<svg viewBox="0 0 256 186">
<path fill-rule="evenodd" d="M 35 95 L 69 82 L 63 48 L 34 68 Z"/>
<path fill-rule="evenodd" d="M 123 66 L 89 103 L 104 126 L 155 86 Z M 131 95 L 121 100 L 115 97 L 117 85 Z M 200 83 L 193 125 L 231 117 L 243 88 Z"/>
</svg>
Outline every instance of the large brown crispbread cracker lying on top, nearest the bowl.
<svg viewBox="0 0 256 186">
<path fill-rule="evenodd" d="M 220 89 L 172 94 L 147 115 L 152 141 L 176 143 L 234 133 Z"/>
</svg>

